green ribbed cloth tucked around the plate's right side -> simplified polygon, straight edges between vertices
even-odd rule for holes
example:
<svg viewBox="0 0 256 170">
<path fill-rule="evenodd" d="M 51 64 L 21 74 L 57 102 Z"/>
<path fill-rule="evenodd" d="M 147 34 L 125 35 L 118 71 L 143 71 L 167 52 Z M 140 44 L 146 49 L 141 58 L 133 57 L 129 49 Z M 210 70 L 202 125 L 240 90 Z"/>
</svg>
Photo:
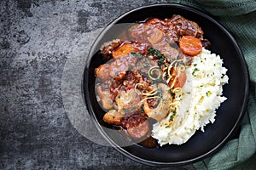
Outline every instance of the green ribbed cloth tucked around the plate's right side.
<svg viewBox="0 0 256 170">
<path fill-rule="evenodd" d="M 212 157 L 195 163 L 197 169 L 256 169 L 256 1 L 170 0 L 199 8 L 218 20 L 238 42 L 250 74 L 247 111 L 238 139 L 231 139 Z"/>
</svg>

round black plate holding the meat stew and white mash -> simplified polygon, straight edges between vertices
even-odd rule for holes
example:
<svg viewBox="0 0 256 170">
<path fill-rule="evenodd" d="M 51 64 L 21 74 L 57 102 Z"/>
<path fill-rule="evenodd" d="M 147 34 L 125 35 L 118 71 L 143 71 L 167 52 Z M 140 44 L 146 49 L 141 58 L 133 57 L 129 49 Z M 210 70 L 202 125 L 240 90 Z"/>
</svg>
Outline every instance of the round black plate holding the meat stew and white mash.
<svg viewBox="0 0 256 170">
<path fill-rule="evenodd" d="M 154 149 L 147 149 L 138 144 L 119 147 L 119 145 L 124 145 L 124 138 L 119 132 L 108 131 L 109 126 L 102 121 L 105 112 L 96 101 L 94 71 L 103 63 L 97 52 L 103 42 L 113 40 L 119 34 L 124 28 L 122 24 L 129 25 L 129 23 L 145 20 L 148 17 L 170 18 L 172 14 L 180 14 L 197 22 L 204 31 L 204 37 L 212 42 L 212 53 L 219 54 L 224 60 L 224 67 L 228 69 L 227 75 L 230 78 L 229 83 L 224 85 L 224 96 L 228 99 L 218 109 L 216 121 L 205 127 L 205 133 L 197 131 L 185 144 L 167 144 Z M 248 73 L 247 65 L 235 39 L 216 20 L 195 8 L 174 3 L 162 3 L 137 8 L 123 14 L 102 31 L 91 47 L 84 69 L 83 85 L 84 97 L 90 115 L 100 133 L 108 139 L 111 145 L 135 161 L 148 165 L 170 166 L 192 163 L 210 156 L 236 132 L 247 106 Z"/>
</svg>

